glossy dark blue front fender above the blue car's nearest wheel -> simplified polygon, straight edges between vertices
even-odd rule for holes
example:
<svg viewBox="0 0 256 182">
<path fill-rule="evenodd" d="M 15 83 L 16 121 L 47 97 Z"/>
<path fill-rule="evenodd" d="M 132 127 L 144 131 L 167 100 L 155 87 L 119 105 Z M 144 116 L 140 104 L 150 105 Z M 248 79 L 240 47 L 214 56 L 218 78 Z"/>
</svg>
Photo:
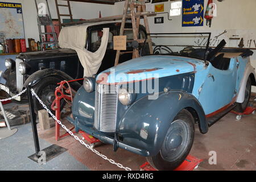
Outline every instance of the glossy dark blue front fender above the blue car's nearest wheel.
<svg viewBox="0 0 256 182">
<path fill-rule="evenodd" d="M 200 131 L 207 133 L 205 113 L 195 96 L 183 90 L 172 90 L 159 93 L 156 100 L 144 96 L 131 105 L 119 122 L 118 134 L 123 143 L 147 150 L 148 155 L 154 156 L 160 151 L 171 122 L 184 108 L 196 111 Z"/>
</svg>

